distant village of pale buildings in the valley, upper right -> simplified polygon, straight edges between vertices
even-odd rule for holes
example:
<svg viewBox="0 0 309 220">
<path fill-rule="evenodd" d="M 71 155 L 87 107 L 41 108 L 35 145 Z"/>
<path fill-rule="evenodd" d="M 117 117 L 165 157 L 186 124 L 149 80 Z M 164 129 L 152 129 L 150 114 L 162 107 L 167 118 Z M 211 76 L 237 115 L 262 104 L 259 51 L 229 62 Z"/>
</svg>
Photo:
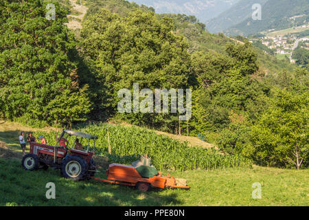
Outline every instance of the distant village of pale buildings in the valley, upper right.
<svg viewBox="0 0 309 220">
<path fill-rule="evenodd" d="M 309 28 L 309 25 L 302 25 L 297 28 Z M 268 30 L 271 32 L 272 30 Z M 286 54 L 290 58 L 291 63 L 295 63 L 292 59 L 293 50 L 295 50 L 301 41 L 309 41 L 307 37 L 299 37 L 293 33 L 285 36 L 263 36 L 259 39 L 251 39 L 253 41 L 262 41 L 262 44 L 273 50 L 275 54 Z M 309 50 L 309 43 L 305 43 L 305 48 Z"/>
</svg>

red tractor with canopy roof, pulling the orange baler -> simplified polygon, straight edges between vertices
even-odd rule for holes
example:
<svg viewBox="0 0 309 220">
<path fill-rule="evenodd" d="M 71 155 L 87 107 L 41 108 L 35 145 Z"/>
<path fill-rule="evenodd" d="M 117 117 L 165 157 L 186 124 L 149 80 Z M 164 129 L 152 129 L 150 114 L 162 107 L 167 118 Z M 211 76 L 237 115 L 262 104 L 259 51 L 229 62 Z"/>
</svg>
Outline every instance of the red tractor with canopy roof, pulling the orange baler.
<svg viewBox="0 0 309 220">
<path fill-rule="evenodd" d="M 76 139 L 74 140 L 71 148 L 66 145 L 59 144 L 62 138 L 74 135 L 77 137 L 89 140 L 87 150 L 74 149 Z M 30 142 L 30 153 L 25 155 L 22 160 L 22 165 L 25 170 L 36 170 L 38 168 L 47 169 L 49 166 L 53 168 L 60 168 L 63 177 L 82 180 L 91 179 L 95 175 L 95 162 L 92 156 L 95 154 L 89 151 L 91 140 L 93 140 L 93 150 L 95 148 L 95 140 L 98 137 L 81 133 L 78 131 L 63 130 L 58 138 L 56 146 L 49 146 L 36 142 Z M 86 148 L 84 146 L 84 148 Z"/>
</svg>

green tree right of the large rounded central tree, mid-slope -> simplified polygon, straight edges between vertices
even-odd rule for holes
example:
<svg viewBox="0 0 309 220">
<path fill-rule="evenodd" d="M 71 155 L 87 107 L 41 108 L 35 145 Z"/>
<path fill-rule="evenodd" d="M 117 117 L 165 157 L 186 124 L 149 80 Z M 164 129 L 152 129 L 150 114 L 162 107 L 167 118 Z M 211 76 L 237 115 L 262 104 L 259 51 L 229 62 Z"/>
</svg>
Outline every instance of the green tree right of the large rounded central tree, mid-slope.
<svg viewBox="0 0 309 220">
<path fill-rule="evenodd" d="M 227 127 L 234 111 L 250 114 L 252 119 L 261 113 L 265 94 L 262 83 L 252 76 L 257 70 L 257 55 L 249 44 L 229 43 L 226 54 L 192 54 L 192 72 L 202 88 L 200 102 L 208 113 L 210 129 Z"/>
</svg>

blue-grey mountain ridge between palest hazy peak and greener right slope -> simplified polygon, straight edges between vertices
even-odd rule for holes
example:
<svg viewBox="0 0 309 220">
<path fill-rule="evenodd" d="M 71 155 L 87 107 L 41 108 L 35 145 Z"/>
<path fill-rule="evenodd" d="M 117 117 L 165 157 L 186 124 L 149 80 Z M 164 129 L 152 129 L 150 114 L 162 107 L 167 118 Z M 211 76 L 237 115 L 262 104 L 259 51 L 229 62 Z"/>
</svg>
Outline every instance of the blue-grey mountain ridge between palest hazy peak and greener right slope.
<svg viewBox="0 0 309 220">
<path fill-rule="evenodd" d="M 206 28 L 211 33 L 218 33 L 231 28 L 238 23 L 251 17 L 253 10 L 252 5 L 260 3 L 264 5 L 268 0 L 240 0 L 232 5 L 229 10 L 222 12 L 218 17 L 206 22 Z"/>
</svg>

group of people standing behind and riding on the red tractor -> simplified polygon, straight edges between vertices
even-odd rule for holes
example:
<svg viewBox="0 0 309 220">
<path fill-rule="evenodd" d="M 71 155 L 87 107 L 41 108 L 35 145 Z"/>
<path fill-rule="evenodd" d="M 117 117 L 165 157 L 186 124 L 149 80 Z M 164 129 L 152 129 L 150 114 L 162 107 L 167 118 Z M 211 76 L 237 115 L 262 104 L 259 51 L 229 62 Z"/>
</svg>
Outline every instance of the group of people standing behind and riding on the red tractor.
<svg viewBox="0 0 309 220">
<path fill-rule="evenodd" d="M 46 138 L 43 136 L 39 136 L 38 139 L 40 140 L 41 144 L 47 144 Z M 58 140 L 58 138 L 56 138 L 57 141 L 59 141 L 59 146 L 66 148 L 67 144 L 69 144 L 69 142 L 64 138 L 61 137 L 60 140 Z M 27 137 L 27 142 L 36 142 L 36 137 L 34 137 L 34 135 L 32 135 L 32 132 L 28 133 L 28 137 Z M 23 156 L 25 155 L 25 147 L 26 147 L 26 142 L 25 142 L 25 133 L 23 131 L 21 131 L 21 135 L 19 135 L 19 143 L 21 144 L 21 149 L 23 150 Z M 80 140 L 78 140 L 78 138 L 76 138 L 75 141 L 75 147 L 76 150 L 80 150 L 82 151 L 82 144 L 80 144 Z"/>
</svg>

